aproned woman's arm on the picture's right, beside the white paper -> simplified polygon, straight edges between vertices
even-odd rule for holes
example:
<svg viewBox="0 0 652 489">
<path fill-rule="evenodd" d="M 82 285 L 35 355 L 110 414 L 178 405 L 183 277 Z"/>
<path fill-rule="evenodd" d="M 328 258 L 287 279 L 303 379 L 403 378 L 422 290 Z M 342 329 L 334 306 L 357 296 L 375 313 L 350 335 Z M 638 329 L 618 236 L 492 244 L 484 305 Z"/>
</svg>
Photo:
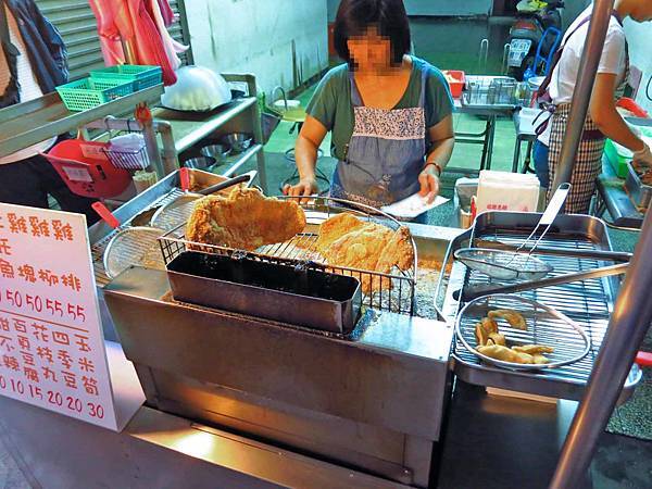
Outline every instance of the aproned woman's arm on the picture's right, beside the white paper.
<svg viewBox="0 0 652 489">
<path fill-rule="evenodd" d="M 441 122 L 428 129 L 430 136 L 430 152 L 426 158 L 426 166 L 418 176 L 419 195 L 432 202 L 439 193 L 439 177 L 453 154 L 455 134 L 453 115 L 448 115 Z"/>
</svg>

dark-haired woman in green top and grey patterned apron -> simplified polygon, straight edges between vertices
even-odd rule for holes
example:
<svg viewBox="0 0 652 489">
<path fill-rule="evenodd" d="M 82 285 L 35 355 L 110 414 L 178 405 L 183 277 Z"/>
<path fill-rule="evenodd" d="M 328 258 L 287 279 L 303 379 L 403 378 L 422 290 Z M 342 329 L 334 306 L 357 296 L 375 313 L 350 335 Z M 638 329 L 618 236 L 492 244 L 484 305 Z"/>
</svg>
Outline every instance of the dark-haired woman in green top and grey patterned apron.
<svg viewBox="0 0 652 489">
<path fill-rule="evenodd" d="M 308 105 L 296 145 L 300 180 L 285 193 L 317 191 L 317 149 L 330 131 L 331 197 L 376 208 L 416 192 L 432 201 L 453 151 L 453 102 L 441 72 L 408 54 L 403 1 L 342 0 L 334 36 L 347 63 L 326 74 Z"/>
</svg>

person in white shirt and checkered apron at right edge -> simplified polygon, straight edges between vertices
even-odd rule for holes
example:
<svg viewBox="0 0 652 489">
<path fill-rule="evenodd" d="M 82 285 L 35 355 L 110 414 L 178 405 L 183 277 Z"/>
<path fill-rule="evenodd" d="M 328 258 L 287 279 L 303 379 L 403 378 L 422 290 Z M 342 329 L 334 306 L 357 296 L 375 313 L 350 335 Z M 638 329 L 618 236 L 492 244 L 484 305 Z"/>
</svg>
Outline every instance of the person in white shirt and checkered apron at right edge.
<svg viewBox="0 0 652 489">
<path fill-rule="evenodd" d="M 551 99 L 550 108 L 553 114 L 534 149 L 535 170 L 541 186 L 549 189 L 549 198 L 561 156 L 592 9 L 593 7 L 590 5 L 568 27 L 560 47 L 561 58 L 550 75 L 548 96 Z M 652 21 L 652 1 L 615 1 L 582 140 L 570 180 L 573 190 L 566 202 L 566 212 L 588 212 L 595 190 L 595 178 L 602 170 L 605 137 L 629 148 L 635 153 L 635 161 L 652 166 L 650 148 L 627 126 L 616 111 L 616 99 L 623 96 L 629 77 L 629 52 L 623 29 L 623 20 L 626 17 L 640 23 Z"/>
</svg>

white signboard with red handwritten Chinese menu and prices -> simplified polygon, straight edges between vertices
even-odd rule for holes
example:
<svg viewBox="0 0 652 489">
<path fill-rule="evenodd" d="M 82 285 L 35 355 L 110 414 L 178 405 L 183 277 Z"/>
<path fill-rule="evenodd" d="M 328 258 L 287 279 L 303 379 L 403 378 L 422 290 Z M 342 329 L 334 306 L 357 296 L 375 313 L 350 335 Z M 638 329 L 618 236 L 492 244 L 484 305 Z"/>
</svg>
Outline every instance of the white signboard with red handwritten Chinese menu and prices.
<svg viewBox="0 0 652 489">
<path fill-rule="evenodd" d="M 0 396 L 117 429 L 80 214 L 0 203 Z"/>
</svg>

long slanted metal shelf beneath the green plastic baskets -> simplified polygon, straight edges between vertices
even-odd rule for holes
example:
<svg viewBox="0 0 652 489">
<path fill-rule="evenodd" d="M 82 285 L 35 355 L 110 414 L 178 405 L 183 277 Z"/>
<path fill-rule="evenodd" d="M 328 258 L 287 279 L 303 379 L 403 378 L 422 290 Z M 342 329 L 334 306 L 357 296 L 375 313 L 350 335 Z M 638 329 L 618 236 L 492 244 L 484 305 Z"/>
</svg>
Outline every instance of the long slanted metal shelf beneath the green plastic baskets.
<svg viewBox="0 0 652 489">
<path fill-rule="evenodd" d="M 103 118 L 133 112 L 141 102 L 159 103 L 163 85 L 147 88 L 83 112 L 68 111 L 59 93 L 0 110 L 0 158 Z"/>
</svg>

